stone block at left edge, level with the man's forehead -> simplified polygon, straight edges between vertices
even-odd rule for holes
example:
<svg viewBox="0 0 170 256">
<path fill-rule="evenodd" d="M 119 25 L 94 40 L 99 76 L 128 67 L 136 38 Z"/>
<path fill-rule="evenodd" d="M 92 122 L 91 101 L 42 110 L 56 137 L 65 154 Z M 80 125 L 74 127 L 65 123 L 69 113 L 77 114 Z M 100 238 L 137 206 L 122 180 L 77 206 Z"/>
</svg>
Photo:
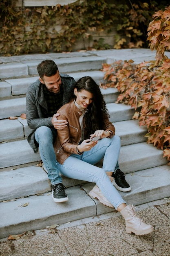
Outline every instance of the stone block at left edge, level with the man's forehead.
<svg viewBox="0 0 170 256">
<path fill-rule="evenodd" d="M 23 63 L 0 64 L 0 79 L 27 76 L 28 67 Z"/>
</svg>

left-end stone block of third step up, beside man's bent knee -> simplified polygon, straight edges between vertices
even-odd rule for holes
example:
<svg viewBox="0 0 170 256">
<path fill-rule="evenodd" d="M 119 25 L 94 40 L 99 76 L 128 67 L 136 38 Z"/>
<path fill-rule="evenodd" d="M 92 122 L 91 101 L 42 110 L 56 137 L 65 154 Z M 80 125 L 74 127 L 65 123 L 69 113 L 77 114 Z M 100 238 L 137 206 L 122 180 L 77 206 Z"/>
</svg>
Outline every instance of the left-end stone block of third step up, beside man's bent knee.
<svg viewBox="0 0 170 256">
<path fill-rule="evenodd" d="M 26 139 L 0 144 L 0 168 L 27 164 L 41 160 L 39 153 L 34 153 Z"/>
</svg>

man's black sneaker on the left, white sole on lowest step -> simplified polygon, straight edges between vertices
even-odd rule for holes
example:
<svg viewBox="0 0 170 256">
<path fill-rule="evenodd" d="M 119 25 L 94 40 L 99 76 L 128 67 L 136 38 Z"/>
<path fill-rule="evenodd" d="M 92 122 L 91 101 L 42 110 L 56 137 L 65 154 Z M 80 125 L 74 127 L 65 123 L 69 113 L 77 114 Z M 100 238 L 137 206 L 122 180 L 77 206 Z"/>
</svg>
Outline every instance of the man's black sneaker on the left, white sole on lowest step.
<svg viewBox="0 0 170 256">
<path fill-rule="evenodd" d="M 61 203 L 68 201 L 68 197 L 64 189 L 66 189 L 66 187 L 62 183 L 52 186 L 52 198 L 54 202 Z"/>
</svg>

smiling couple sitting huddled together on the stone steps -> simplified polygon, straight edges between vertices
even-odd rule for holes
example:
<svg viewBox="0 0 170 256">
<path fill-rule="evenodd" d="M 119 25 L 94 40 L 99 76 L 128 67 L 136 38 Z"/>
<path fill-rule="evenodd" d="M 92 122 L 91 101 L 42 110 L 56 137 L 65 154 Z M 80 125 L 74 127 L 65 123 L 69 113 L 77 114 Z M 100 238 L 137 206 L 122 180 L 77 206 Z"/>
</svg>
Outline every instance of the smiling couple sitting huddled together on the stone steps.
<svg viewBox="0 0 170 256">
<path fill-rule="evenodd" d="M 26 93 L 27 122 L 33 129 L 28 141 L 35 152 L 39 146 L 51 180 L 53 200 L 68 200 L 60 173 L 95 182 L 89 195 L 115 207 L 124 217 L 128 233 L 152 232 L 153 227 L 143 222 L 133 205 L 127 206 L 117 191 L 130 191 L 131 188 L 119 170 L 120 138 L 109 121 L 99 86 L 90 76 L 76 83 L 70 76 L 60 76 L 51 60 L 42 61 L 38 73 L 40 79 Z M 98 141 L 92 140 L 98 136 Z M 102 168 L 94 166 L 101 159 Z"/>
</svg>

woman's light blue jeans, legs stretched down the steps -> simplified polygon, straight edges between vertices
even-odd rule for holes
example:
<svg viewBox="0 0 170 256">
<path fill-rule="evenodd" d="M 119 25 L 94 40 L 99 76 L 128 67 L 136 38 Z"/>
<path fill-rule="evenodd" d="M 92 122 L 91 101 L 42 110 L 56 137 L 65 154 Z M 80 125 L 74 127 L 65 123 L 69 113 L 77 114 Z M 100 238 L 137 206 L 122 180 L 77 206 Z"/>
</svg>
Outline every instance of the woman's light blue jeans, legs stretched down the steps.
<svg viewBox="0 0 170 256">
<path fill-rule="evenodd" d="M 106 172 L 115 170 L 119 152 L 120 138 L 115 135 L 99 140 L 91 150 L 85 151 L 82 155 L 71 154 L 63 165 L 57 162 L 57 167 L 66 177 L 95 182 L 107 200 L 117 209 L 120 204 L 126 202 L 110 182 Z M 102 168 L 94 166 L 102 159 Z"/>
</svg>

